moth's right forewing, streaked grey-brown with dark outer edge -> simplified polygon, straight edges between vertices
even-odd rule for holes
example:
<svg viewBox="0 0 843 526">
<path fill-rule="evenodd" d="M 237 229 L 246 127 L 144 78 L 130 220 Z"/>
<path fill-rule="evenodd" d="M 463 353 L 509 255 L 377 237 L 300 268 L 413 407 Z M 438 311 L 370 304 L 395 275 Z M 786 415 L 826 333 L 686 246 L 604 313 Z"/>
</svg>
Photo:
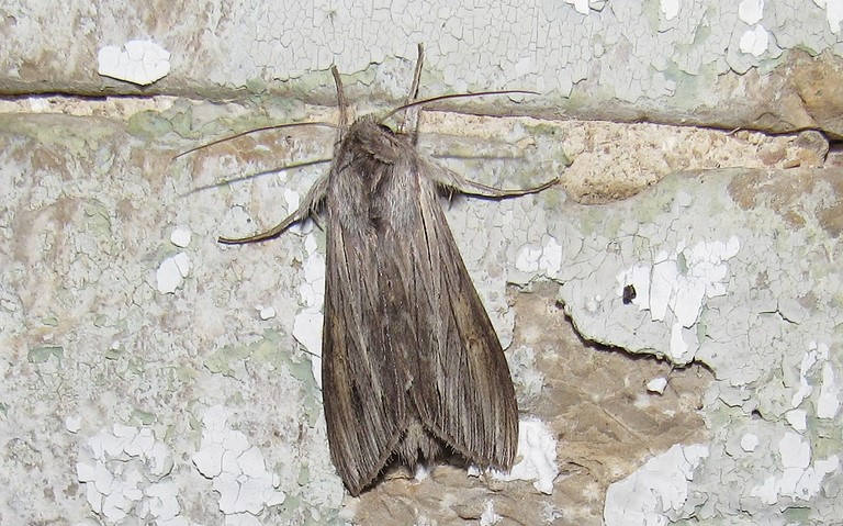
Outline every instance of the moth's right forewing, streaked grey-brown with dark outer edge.
<svg viewBox="0 0 843 526">
<path fill-rule="evenodd" d="M 418 310 L 412 398 L 423 424 L 482 467 L 508 470 L 518 441 L 518 407 L 501 342 L 474 289 L 439 203 L 419 178 L 419 227 L 406 231 L 413 268 L 407 306 Z M 398 233 L 396 233 L 396 236 Z M 424 279 L 419 279 L 419 277 Z M 412 349 L 408 349 L 412 352 Z"/>
</svg>

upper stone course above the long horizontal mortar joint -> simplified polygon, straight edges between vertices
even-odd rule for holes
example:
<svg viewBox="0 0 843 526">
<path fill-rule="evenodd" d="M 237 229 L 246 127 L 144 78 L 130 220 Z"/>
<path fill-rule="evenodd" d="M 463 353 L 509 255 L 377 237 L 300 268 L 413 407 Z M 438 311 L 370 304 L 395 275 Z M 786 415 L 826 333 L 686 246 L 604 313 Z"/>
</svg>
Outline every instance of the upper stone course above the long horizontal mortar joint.
<svg viewBox="0 0 843 526">
<path fill-rule="evenodd" d="M 395 69 L 392 57 L 412 67 L 416 44 L 426 43 L 435 94 L 532 89 L 542 97 L 519 111 L 533 116 L 817 128 L 841 137 L 839 9 L 820 0 L 450 2 L 435 9 L 382 0 L 214 0 L 183 12 L 162 1 L 18 1 L 0 18 L 0 93 L 229 99 L 268 90 L 324 103 L 333 97 L 327 70 L 336 64 L 357 81 L 349 82 L 352 98 L 397 101 L 404 71 L 384 71 Z M 105 76 L 102 51 L 126 45 L 138 56 L 122 66 L 140 76 Z M 159 65 L 166 53 L 169 74 L 138 86 L 166 69 Z M 479 101 L 462 108 L 506 111 Z"/>
</svg>

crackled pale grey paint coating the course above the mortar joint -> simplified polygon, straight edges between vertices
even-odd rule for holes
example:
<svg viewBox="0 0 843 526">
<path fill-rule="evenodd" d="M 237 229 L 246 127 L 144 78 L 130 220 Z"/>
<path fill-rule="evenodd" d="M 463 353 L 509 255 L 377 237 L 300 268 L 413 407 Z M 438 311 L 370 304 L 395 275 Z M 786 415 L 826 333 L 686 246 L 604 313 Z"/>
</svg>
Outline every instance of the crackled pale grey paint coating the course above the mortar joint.
<svg viewBox="0 0 843 526">
<path fill-rule="evenodd" d="M 498 87 L 517 83 L 520 88 L 553 93 L 557 100 L 551 100 L 551 105 L 561 107 L 576 87 L 576 94 L 586 96 L 589 103 L 617 99 L 643 104 L 639 101 L 643 97 L 655 101 L 653 108 L 670 97 L 672 90 L 679 89 L 679 100 L 694 108 L 693 101 L 713 100 L 716 104 L 715 97 L 722 94 L 709 91 L 710 86 L 690 88 L 690 83 L 707 85 L 706 79 L 716 78 L 730 68 L 744 72 L 765 60 L 777 59 L 780 56 L 777 43 L 786 43 L 786 49 L 805 48 L 812 54 L 830 51 L 840 55 L 835 37 L 843 20 L 840 0 L 776 1 L 766 5 L 760 0 L 737 3 L 565 0 L 535 5 L 460 2 L 441 5 L 441 9 L 382 0 L 363 5 L 319 1 L 263 9 L 255 9 L 248 2 L 225 8 L 214 4 L 214 9 L 203 14 L 203 23 L 180 25 L 184 42 L 203 44 L 201 52 L 199 48 L 181 52 L 180 74 L 194 82 L 205 82 L 206 89 L 213 89 L 209 85 L 214 82 L 226 88 L 259 89 L 277 80 L 305 78 L 311 71 L 324 72 L 331 64 L 351 75 L 390 57 L 412 58 L 415 44 L 425 42 L 430 55 L 436 57 L 431 60 L 436 64 L 431 69 L 438 69 L 435 77 L 451 91 L 488 89 L 490 83 Z M 68 30 L 54 20 L 60 18 L 50 16 L 45 8 L 19 9 L 20 12 L 12 11 L 13 18 L 20 21 L 18 31 L 8 35 L 9 52 L 4 58 L 10 64 L 38 64 L 37 49 L 55 44 L 52 35 L 72 42 L 75 35 L 68 34 Z M 66 13 L 67 18 L 80 21 L 80 31 L 86 35 L 125 38 L 126 24 L 140 32 L 156 32 L 155 24 L 148 22 L 156 14 L 151 7 L 138 7 L 125 13 L 125 18 L 112 16 L 108 10 L 87 11 L 86 7 L 75 7 Z M 501 25 L 498 21 L 508 23 Z M 205 27 L 215 31 L 207 32 Z M 490 32 L 490 27 L 496 30 Z M 768 33 L 769 49 L 755 55 L 761 48 L 758 32 L 762 29 Z M 746 35 L 754 35 L 752 44 L 746 42 Z M 173 38 L 169 34 L 165 36 Z M 167 63 L 169 58 L 162 58 L 167 57 L 166 51 L 151 46 L 156 46 L 151 41 L 109 46 L 113 51 L 106 64 L 120 69 L 110 72 L 103 67 L 102 72 L 128 77 L 135 82 L 154 81 L 161 75 L 157 63 Z M 135 47 L 140 52 L 134 51 Z M 752 53 L 741 51 L 748 48 Z M 81 49 L 68 49 L 68 55 L 70 64 L 85 63 Z M 10 60 L 15 56 L 20 59 Z M 149 64 L 138 67 L 139 72 L 130 76 L 121 71 L 127 67 L 124 63 L 143 59 Z M 596 64 L 600 67 L 595 67 Z M 52 69 L 58 67 L 52 66 Z M 677 82 L 677 70 L 685 74 L 679 77 L 698 79 L 681 78 Z M 58 77 L 56 72 L 46 75 Z M 30 79 L 34 74 L 12 67 L 9 75 L 13 79 Z M 371 71 L 367 77 L 367 82 L 374 78 L 374 82 L 383 86 L 393 81 L 389 75 Z M 314 80 L 310 78 L 305 82 Z M 592 89 L 596 86 L 600 89 Z M 573 107 L 576 104 L 580 102 Z"/>
</svg>

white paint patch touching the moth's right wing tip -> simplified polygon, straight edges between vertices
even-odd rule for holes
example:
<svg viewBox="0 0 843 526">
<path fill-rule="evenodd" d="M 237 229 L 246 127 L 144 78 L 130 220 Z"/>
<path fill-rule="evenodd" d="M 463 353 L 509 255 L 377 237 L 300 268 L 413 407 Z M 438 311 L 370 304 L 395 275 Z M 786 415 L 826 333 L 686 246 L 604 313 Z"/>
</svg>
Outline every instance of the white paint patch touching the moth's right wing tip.
<svg viewBox="0 0 843 526">
<path fill-rule="evenodd" d="M 553 493 L 553 481 L 559 475 L 557 440 L 538 418 L 518 423 L 518 451 L 521 461 L 509 473 L 493 472 L 498 480 L 532 480 L 532 485 L 544 494 Z"/>
</svg>

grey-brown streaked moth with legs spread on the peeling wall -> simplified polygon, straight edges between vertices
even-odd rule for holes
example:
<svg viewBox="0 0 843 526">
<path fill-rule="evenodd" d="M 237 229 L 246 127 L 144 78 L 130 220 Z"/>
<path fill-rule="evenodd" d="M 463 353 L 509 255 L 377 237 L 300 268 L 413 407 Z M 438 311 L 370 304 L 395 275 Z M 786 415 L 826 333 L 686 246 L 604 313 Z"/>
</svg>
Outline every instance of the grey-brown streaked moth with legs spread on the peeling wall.
<svg viewBox="0 0 843 526">
<path fill-rule="evenodd" d="M 414 127 L 429 102 L 416 101 L 422 63 L 419 46 L 407 104 L 387 115 L 406 112 Z M 220 242 L 266 240 L 323 216 L 323 403 L 330 457 L 352 495 L 393 462 L 415 470 L 457 454 L 508 471 L 518 441 L 509 368 L 439 197 L 525 195 L 557 179 L 526 190 L 487 187 L 417 152 L 415 128 L 394 132 L 372 115 L 348 125 L 342 83 L 336 67 L 331 72 L 340 137 L 329 172 L 278 226 Z"/>
</svg>

